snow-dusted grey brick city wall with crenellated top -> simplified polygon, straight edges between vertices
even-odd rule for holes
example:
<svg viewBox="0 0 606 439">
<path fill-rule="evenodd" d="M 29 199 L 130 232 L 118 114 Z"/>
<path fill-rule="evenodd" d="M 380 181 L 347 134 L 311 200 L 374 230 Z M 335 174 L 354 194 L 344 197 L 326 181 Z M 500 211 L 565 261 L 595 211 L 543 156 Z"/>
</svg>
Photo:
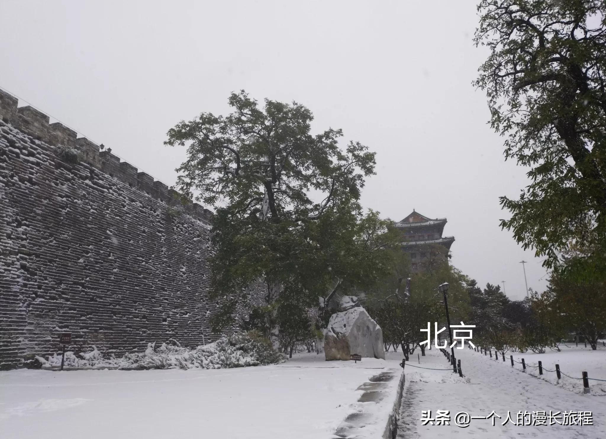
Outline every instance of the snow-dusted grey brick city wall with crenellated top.
<svg viewBox="0 0 606 439">
<path fill-rule="evenodd" d="M 116 355 L 216 340 L 211 212 L 17 104 L 0 90 L 0 368 L 61 351 L 61 332 Z"/>
</svg>

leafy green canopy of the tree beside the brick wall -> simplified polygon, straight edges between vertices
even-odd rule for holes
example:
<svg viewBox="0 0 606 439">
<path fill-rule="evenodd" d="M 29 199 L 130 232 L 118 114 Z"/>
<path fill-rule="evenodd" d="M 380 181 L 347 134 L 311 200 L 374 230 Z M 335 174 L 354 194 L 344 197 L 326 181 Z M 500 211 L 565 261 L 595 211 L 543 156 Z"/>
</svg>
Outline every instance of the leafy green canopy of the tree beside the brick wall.
<svg viewBox="0 0 606 439">
<path fill-rule="evenodd" d="M 387 221 L 359 204 L 375 154 L 359 142 L 339 145 L 341 130 L 311 134 L 301 104 L 232 93 L 228 116 L 201 113 L 168 131 L 165 144 L 187 147 L 178 186 L 215 208 L 212 292 L 222 297 L 215 328 L 231 322 L 245 286 L 262 279 L 277 340 L 277 307 L 370 282 L 389 262 L 376 251 L 390 236 Z M 282 294 L 285 293 L 285 294 Z"/>
</svg>

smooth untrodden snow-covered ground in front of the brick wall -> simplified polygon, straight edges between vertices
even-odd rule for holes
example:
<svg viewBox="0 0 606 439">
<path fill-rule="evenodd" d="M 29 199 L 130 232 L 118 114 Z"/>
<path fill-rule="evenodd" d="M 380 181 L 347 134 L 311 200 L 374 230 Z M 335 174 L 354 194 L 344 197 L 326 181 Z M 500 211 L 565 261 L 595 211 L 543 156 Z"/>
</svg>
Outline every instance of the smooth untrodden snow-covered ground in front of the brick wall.
<svg viewBox="0 0 606 439">
<path fill-rule="evenodd" d="M 361 411 L 373 413 L 368 437 L 381 437 L 398 361 L 323 358 L 218 370 L 0 372 L 0 437 L 330 438 Z M 358 387 L 388 368 L 396 369 L 394 398 L 358 402 Z"/>
</svg>

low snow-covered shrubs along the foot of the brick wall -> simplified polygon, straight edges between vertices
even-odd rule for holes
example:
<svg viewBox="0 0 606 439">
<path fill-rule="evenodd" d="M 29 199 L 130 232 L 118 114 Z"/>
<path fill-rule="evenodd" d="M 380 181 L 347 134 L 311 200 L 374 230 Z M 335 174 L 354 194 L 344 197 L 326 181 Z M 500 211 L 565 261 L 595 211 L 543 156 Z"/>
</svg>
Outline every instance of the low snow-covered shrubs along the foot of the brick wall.
<svg viewBox="0 0 606 439">
<path fill-rule="evenodd" d="M 76 357 L 73 352 L 65 352 L 66 367 L 97 368 L 140 368 L 140 369 L 223 369 L 245 366 L 261 366 L 280 363 L 284 357 L 271 349 L 269 340 L 256 332 L 236 333 L 222 337 L 210 345 L 196 349 L 182 348 L 178 342 L 162 345 L 155 349 L 155 343 L 148 343 L 144 352 L 125 354 L 122 358 L 102 358 L 95 346 L 92 352 Z M 61 354 L 44 358 L 36 357 L 43 368 L 61 366 Z"/>
</svg>

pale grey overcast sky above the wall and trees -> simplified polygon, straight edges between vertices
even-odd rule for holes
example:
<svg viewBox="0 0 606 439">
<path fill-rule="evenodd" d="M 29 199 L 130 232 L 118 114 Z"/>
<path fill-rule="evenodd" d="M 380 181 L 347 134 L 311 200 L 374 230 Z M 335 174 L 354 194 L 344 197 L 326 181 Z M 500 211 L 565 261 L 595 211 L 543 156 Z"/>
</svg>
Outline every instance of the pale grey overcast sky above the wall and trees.
<svg viewBox="0 0 606 439">
<path fill-rule="evenodd" d="M 179 120 L 228 113 L 242 88 L 300 102 L 316 132 L 376 151 L 366 208 L 447 217 L 453 265 L 521 299 L 519 261 L 530 288 L 548 276 L 499 228 L 498 197 L 517 197 L 527 170 L 505 163 L 471 86 L 487 56 L 475 4 L 0 0 L 0 87 L 168 185 L 185 151 L 162 142 Z"/>
</svg>

